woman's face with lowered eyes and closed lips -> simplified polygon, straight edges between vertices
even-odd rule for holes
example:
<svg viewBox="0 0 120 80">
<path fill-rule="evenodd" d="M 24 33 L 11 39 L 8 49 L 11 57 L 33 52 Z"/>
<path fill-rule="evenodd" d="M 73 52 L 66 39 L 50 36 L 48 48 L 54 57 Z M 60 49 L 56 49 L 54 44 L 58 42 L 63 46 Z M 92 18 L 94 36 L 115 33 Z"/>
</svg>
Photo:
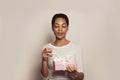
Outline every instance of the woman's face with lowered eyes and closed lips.
<svg viewBox="0 0 120 80">
<path fill-rule="evenodd" d="M 56 18 L 52 30 L 56 39 L 64 39 L 68 31 L 68 25 L 64 18 Z"/>
</svg>

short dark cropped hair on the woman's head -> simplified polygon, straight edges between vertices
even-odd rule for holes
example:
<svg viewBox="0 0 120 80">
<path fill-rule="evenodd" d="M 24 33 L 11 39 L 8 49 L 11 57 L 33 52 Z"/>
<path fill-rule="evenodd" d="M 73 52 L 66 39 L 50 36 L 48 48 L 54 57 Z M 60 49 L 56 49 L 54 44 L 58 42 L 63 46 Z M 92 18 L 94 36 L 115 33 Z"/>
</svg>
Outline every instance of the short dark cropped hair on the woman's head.
<svg viewBox="0 0 120 80">
<path fill-rule="evenodd" d="M 51 22 L 52 26 L 54 25 L 55 20 L 56 20 L 57 18 L 63 18 L 63 19 L 65 19 L 67 25 L 69 25 L 69 19 L 68 19 L 67 15 L 66 15 L 66 14 L 63 14 L 63 13 L 58 13 L 58 14 L 55 14 L 55 15 L 53 16 L 53 18 L 52 18 L 52 22 Z"/>
</svg>

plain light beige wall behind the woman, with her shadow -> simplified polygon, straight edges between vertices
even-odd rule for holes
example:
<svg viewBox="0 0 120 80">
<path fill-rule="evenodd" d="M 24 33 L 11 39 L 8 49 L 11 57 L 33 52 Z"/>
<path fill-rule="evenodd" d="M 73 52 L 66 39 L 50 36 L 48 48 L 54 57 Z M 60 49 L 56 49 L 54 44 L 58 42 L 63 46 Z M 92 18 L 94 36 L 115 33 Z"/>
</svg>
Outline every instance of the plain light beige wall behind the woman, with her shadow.
<svg viewBox="0 0 120 80">
<path fill-rule="evenodd" d="M 0 0 L 0 80 L 40 80 L 51 19 L 65 13 L 67 38 L 82 47 L 84 80 L 119 80 L 119 0 Z"/>
</svg>

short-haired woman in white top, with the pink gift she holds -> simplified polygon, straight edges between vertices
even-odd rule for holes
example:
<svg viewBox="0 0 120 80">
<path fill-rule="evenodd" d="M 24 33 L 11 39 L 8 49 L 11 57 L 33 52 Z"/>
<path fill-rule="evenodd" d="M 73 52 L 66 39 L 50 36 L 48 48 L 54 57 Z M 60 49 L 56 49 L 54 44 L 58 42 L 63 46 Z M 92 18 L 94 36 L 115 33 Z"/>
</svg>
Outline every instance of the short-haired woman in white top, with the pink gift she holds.
<svg viewBox="0 0 120 80">
<path fill-rule="evenodd" d="M 83 80 L 80 46 L 66 39 L 68 17 L 62 13 L 55 14 L 51 23 L 55 41 L 43 48 L 43 80 Z"/>
</svg>

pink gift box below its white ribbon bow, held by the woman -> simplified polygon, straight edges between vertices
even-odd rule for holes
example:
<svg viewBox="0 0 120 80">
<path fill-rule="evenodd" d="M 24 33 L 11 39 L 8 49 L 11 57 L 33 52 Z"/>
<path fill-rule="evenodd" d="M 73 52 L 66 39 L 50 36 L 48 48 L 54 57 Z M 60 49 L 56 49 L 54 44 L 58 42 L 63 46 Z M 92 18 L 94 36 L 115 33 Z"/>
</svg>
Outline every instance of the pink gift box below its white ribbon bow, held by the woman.
<svg viewBox="0 0 120 80">
<path fill-rule="evenodd" d="M 73 62 L 65 62 L 65 63 L 54 62 L 54 67 L 55 67 L 56 71 L 58 71 L 58 70 L 66 70 L 67 66 L 74 66 L 74 64 L 73 64 Z"/>
</svg>

